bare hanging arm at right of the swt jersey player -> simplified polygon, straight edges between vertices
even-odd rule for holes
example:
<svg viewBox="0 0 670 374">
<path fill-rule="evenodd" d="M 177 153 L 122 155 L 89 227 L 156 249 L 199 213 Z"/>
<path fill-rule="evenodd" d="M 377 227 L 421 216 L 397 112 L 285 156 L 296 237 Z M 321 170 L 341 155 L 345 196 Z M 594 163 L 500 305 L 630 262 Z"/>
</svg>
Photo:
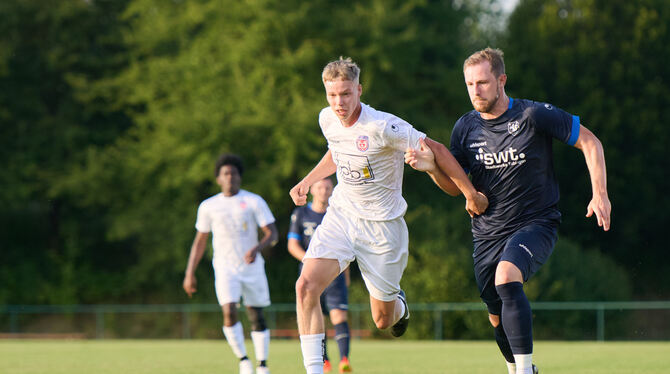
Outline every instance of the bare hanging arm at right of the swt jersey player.
<svg viewBox="0 0 670 374">
<path fill-rule="evenodd" d="M 591 176 L 593 197 L 586 207 L 586 216 L 591 217 L 595 214 L 598 226 L 601 226 L 605 231 L 609 231 L 612 203 L 610 203 L 607 195 L 607 167 L 603 145 L 589 129 L 580 125 L 579 138 L 577 138 L 575 147 L 584 153 L 586 166 Z"/>
</svg>

